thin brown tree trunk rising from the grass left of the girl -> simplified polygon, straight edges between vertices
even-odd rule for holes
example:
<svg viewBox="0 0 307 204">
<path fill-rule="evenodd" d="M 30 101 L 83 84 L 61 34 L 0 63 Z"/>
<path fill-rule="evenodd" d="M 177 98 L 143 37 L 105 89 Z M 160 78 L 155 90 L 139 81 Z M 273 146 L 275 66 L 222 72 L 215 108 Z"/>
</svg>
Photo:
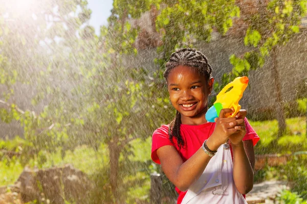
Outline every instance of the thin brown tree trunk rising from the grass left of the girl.
<svg viewBox="0 0 307 204">
<path fill-rule="evenodd" d="M 118 193 L 118 171 L 119 171 L 119 156 L 120 148 L 117 142 L 108 143 L 109 159 L 110 159 L 110 183 L 112 194 L 116 203 L 119 203 L 120 197 Z"/>
</svg>

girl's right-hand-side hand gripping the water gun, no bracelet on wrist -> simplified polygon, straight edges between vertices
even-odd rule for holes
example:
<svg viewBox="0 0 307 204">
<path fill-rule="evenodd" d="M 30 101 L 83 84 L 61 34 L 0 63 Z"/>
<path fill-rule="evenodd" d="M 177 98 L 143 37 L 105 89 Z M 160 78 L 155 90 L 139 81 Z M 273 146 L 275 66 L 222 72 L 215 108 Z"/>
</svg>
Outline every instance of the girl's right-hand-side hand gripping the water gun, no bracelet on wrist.
<svg viewBox="0 0 307 204">
<path fill-rule="evenodd" d="M 246 134 L 246 128 L 244 122 L 246 114 L 247 114 L 246 110 L 240 110 L 235 116 L 236 120 L 229 123 L 229 126 L 233 127 L 233 129 L 236 130 L 235 133 L 229 136 L 229 140 L 231 144 L 234 146 L 242 143 L 242 139 Z"/>
</svg>

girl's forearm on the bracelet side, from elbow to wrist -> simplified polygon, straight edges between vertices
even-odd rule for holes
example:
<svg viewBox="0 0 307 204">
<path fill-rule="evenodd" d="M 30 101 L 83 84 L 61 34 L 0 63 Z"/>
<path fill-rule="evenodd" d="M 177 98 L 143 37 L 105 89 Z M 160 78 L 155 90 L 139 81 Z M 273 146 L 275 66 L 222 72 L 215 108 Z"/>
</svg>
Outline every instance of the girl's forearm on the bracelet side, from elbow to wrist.
<svg viewBox="0 0 307 204">
<path fill-rule="evenodd" d="M 210 138 L 207 145 L 211 150 L 216 150 L 218 146 L 211 143 Z M 186 191 L 204 172 L 211 157 L 202 148 L 195 152 L 186 162 L 184 162 L 176 173 L 177 187 L 181 191 Z M 187 173 L 188 172 L 188 173 Z M 176 185 L 176 184 L 175 184 Z"/>
</svg>

